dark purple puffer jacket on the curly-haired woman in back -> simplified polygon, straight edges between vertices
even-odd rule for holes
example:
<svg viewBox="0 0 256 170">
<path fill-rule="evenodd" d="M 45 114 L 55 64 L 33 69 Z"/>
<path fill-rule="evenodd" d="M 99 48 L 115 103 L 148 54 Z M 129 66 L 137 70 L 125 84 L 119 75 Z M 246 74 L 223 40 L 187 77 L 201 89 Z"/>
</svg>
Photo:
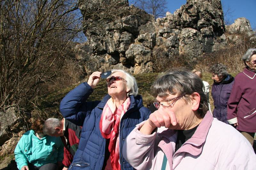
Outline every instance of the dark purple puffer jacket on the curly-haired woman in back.
<svg viewBox="0 0 256 170">
<path fill-rule="evenodd" d="M 213 117 L 226 124 L 229 124 L 227 120 L 227 103 L 233 84 L 234 77 L 228 74 L 223 81 L 214 82 L 212 85 Z"/>
</svg>

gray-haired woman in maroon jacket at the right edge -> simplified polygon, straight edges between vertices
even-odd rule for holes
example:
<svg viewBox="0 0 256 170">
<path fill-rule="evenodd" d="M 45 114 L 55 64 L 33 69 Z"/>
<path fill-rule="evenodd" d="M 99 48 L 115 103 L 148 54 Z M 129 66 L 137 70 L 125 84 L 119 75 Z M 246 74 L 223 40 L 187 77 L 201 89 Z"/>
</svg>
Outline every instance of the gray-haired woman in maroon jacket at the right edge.
<svg viewBox="0 0 256 170">
<path fill-rule="evenodd" d="M 242 60 L 245 68 L 236 75 L 228 99 L 228 123 L 253 145 L 256 132 L 256 48 L 248 49 Z"/>
</svg>

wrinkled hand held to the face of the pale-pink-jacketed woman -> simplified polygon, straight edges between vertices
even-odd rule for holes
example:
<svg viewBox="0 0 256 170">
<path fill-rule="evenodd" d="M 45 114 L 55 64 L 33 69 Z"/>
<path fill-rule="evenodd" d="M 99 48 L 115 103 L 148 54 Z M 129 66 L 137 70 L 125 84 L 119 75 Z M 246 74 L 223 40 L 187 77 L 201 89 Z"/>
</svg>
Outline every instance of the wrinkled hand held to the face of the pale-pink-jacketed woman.
<svg viewBox="0 0 256 170">
<path fill-rule="evenodd" d="M 160 107 L 149 115 L 148 120 L 140 128 L 140 132 L 143 134 L 151 134 L 156 127 L 160 128 L 161 126 L 164 126 L 169 128 L 171 125 L 175 126 L 177 123 L 178 120 L 172 110 Z"/>
</svg>

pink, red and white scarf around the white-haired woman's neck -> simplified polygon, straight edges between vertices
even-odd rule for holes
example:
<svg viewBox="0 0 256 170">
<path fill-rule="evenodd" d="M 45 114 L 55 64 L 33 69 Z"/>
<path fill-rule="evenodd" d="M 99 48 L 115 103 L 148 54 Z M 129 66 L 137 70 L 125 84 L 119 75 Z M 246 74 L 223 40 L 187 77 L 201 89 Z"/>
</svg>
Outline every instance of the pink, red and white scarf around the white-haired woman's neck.
<svg viewBox="0 0 256 170">
<path fill-rule="evenodd" d="M 119 124 L 121 117 L 130 106 L 130 97 L 122 105 L 116 108 L 116 104 L 111 97 L 103 108 L 100 118 L 100 132 L 103 138 L 110 139 L 108 150 L 110 152 L 111 166 L 113 170 L 120 170 L 119 161 Z"/>
</svg>

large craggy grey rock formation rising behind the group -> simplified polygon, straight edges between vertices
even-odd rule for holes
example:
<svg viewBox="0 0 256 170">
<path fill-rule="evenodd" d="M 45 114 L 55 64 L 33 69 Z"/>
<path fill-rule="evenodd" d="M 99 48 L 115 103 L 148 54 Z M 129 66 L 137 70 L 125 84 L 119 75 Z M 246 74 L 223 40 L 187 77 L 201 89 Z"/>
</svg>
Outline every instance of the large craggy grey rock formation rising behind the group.
<svg viewBox="0 0 256 170">
<path fill-rule="evenodd" d="M 191 60 L 226 45 L 220 0 L 187 0 L 173 14 L 167 12 L 156 21 L 145 11 L 129 6 L 127 0 L 86 1 L 80 10 L 92 51 L 85 59 L 87 74 L 111 68 L 134 74 L 153 72 L 153 58 L 162 56 L 161 50 L 166 57 L 187 55 Z M 88 11 L 101 13 L 95 16 Z"/>
</svg>

